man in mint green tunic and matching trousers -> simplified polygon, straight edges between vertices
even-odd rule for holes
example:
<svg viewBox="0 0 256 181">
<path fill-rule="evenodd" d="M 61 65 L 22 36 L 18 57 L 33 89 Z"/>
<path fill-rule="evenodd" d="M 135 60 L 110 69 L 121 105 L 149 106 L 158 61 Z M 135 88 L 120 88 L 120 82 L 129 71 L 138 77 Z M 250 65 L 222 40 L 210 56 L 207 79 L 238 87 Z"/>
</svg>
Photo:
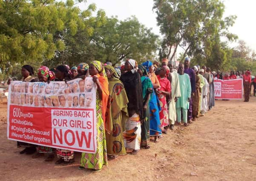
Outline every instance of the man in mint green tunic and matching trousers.
<svg viewBox="0 0 256 181">
<path fill-rule="evenodd" d="M 184 64 L 179 65 L 179 84 L 181 89 L 181 97 L 178 98 L 176 102 L 176 112 L 177 112 L 177 122 L 181 125 L 181 109 L 183 115 L 184 126 L 188 126 L 187 124 L 187 110 L 190 104 L 191 97 L 191 85 L 190 85 L 190 77 L 186 73 L 184 73 Z"/>
</svg>

